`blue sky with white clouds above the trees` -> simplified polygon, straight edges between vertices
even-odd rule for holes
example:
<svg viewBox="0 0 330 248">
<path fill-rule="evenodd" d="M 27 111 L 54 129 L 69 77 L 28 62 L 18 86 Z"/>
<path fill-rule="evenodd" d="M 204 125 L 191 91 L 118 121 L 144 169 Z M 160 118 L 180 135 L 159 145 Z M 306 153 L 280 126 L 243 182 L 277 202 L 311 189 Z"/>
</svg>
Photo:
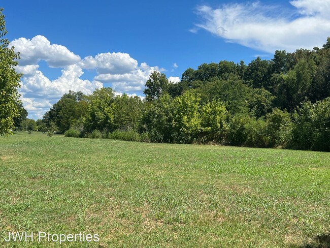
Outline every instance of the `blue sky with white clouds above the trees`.
<svg viewBox="0 0 330 248">
<path fill-rule="evenodd" d="M 154 70 L 176 83 L 203 63 L 248 64 L 322 47 L 330 36 L 330 0 L 2 2 L 6 38 L 21 56 L 21 100 L 34 119 L 69 90 L 144 97 Z"/>
</svg>

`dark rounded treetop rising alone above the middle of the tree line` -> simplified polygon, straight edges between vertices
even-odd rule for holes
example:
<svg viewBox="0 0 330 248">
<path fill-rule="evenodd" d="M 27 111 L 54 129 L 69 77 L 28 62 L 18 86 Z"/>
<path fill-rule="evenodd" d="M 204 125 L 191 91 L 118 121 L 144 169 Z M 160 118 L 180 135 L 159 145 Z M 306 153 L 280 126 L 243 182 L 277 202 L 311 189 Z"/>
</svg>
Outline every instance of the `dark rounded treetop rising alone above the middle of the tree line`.
<svg viewBox="0 0 330 248">
<path fill-rule="evenodd" d="M 151 73 L 149 79 L 147 80 L 143 93 L 146 95 L 146 100 L 148 102 L 158 99 L 164 92 L 168 90 L 169 81 L 166 75 L 154 71 Z"/>
</svg>

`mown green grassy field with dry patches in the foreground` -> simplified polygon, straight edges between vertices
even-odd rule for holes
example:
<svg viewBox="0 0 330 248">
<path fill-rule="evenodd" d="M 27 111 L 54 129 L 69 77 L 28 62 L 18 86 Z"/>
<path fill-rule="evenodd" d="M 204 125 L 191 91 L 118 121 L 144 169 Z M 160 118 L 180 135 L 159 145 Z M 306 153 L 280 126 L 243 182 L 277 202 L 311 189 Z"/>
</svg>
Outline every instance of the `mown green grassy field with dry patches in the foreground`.
<svg viewBox="0 0 330 248">
<path fill-rule="evenodd" d="M 65 247 L 329 247 L 330 154 L 18 133 L 0 137 L 9 231 L 98 234 Z"/>
</svg>

